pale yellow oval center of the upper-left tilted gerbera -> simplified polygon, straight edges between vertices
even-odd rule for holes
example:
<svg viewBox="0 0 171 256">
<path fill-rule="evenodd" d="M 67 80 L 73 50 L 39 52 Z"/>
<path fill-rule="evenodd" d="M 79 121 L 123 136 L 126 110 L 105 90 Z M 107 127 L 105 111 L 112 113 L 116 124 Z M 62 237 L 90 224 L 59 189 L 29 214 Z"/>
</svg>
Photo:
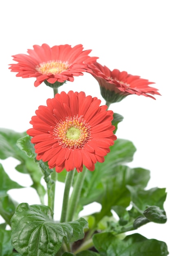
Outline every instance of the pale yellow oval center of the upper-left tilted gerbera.
<svg viewBox="0 0 171 256">
<path fill-rule="evenodd" d="M 62 61 L 48 61 L 40 63 L 36 70 L 43 74 L 43 75 L 49 75 L 49 74 L 60 74 L 63 71 L 68 70 L 69 64 L 64 63 Z"/>
</svg>

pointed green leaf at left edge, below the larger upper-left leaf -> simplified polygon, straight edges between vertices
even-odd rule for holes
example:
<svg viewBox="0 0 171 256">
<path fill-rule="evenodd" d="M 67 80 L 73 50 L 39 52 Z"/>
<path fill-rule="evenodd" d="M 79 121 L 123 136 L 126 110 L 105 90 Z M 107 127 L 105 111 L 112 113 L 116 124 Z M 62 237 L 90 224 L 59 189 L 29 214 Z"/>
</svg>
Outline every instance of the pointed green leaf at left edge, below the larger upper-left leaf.
<svg viewBox="0 0 171 256">
<path fill-rule="evenodd" d="M 0 164 L 0 196 L 6 195 L 9 189 L 21 189 L 23 186 L 20 186 L 17 182 L 11 180 L 7 173 L 4 171 L 2 164 Z"/>
</svg>

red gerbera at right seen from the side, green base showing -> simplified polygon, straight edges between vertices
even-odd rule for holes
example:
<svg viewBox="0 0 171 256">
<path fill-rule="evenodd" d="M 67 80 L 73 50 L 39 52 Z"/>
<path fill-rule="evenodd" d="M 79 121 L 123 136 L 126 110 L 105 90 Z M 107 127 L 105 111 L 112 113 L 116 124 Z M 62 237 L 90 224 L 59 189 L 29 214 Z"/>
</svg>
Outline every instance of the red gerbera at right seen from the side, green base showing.
<svg viewBox="0 0 171 256">
<path fill-rule="evenodd" d="M 160 95 L 158 89 L 149 86 L 153 82 L 142 79 L 140 76 L 133 76 L 126 71 L 120 72 L 117 69 L 111 71 L 97 62 L 90 64 L 89 68 L 91 69 L 89 73 L 100 85 L 102 97 L 109 103 L 119 102 L 130 94 L 143 95 L 152 99 L 155 98 L 150 94 Z"/>
</svg>

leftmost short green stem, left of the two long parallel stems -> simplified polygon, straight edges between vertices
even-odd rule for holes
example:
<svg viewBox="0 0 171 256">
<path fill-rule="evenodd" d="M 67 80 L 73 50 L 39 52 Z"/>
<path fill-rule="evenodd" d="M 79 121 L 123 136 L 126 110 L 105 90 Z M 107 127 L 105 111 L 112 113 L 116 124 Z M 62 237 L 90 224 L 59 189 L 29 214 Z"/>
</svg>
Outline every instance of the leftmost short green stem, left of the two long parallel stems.
<svg viewBox="0 0 171 256">
<path fill-rule="evenodd" d="M 51 173 L 51 183 L 47 186 L 48 206 L 54 211 L 55 187 L 56 187 L 56 171 Z"/>
</svg>

